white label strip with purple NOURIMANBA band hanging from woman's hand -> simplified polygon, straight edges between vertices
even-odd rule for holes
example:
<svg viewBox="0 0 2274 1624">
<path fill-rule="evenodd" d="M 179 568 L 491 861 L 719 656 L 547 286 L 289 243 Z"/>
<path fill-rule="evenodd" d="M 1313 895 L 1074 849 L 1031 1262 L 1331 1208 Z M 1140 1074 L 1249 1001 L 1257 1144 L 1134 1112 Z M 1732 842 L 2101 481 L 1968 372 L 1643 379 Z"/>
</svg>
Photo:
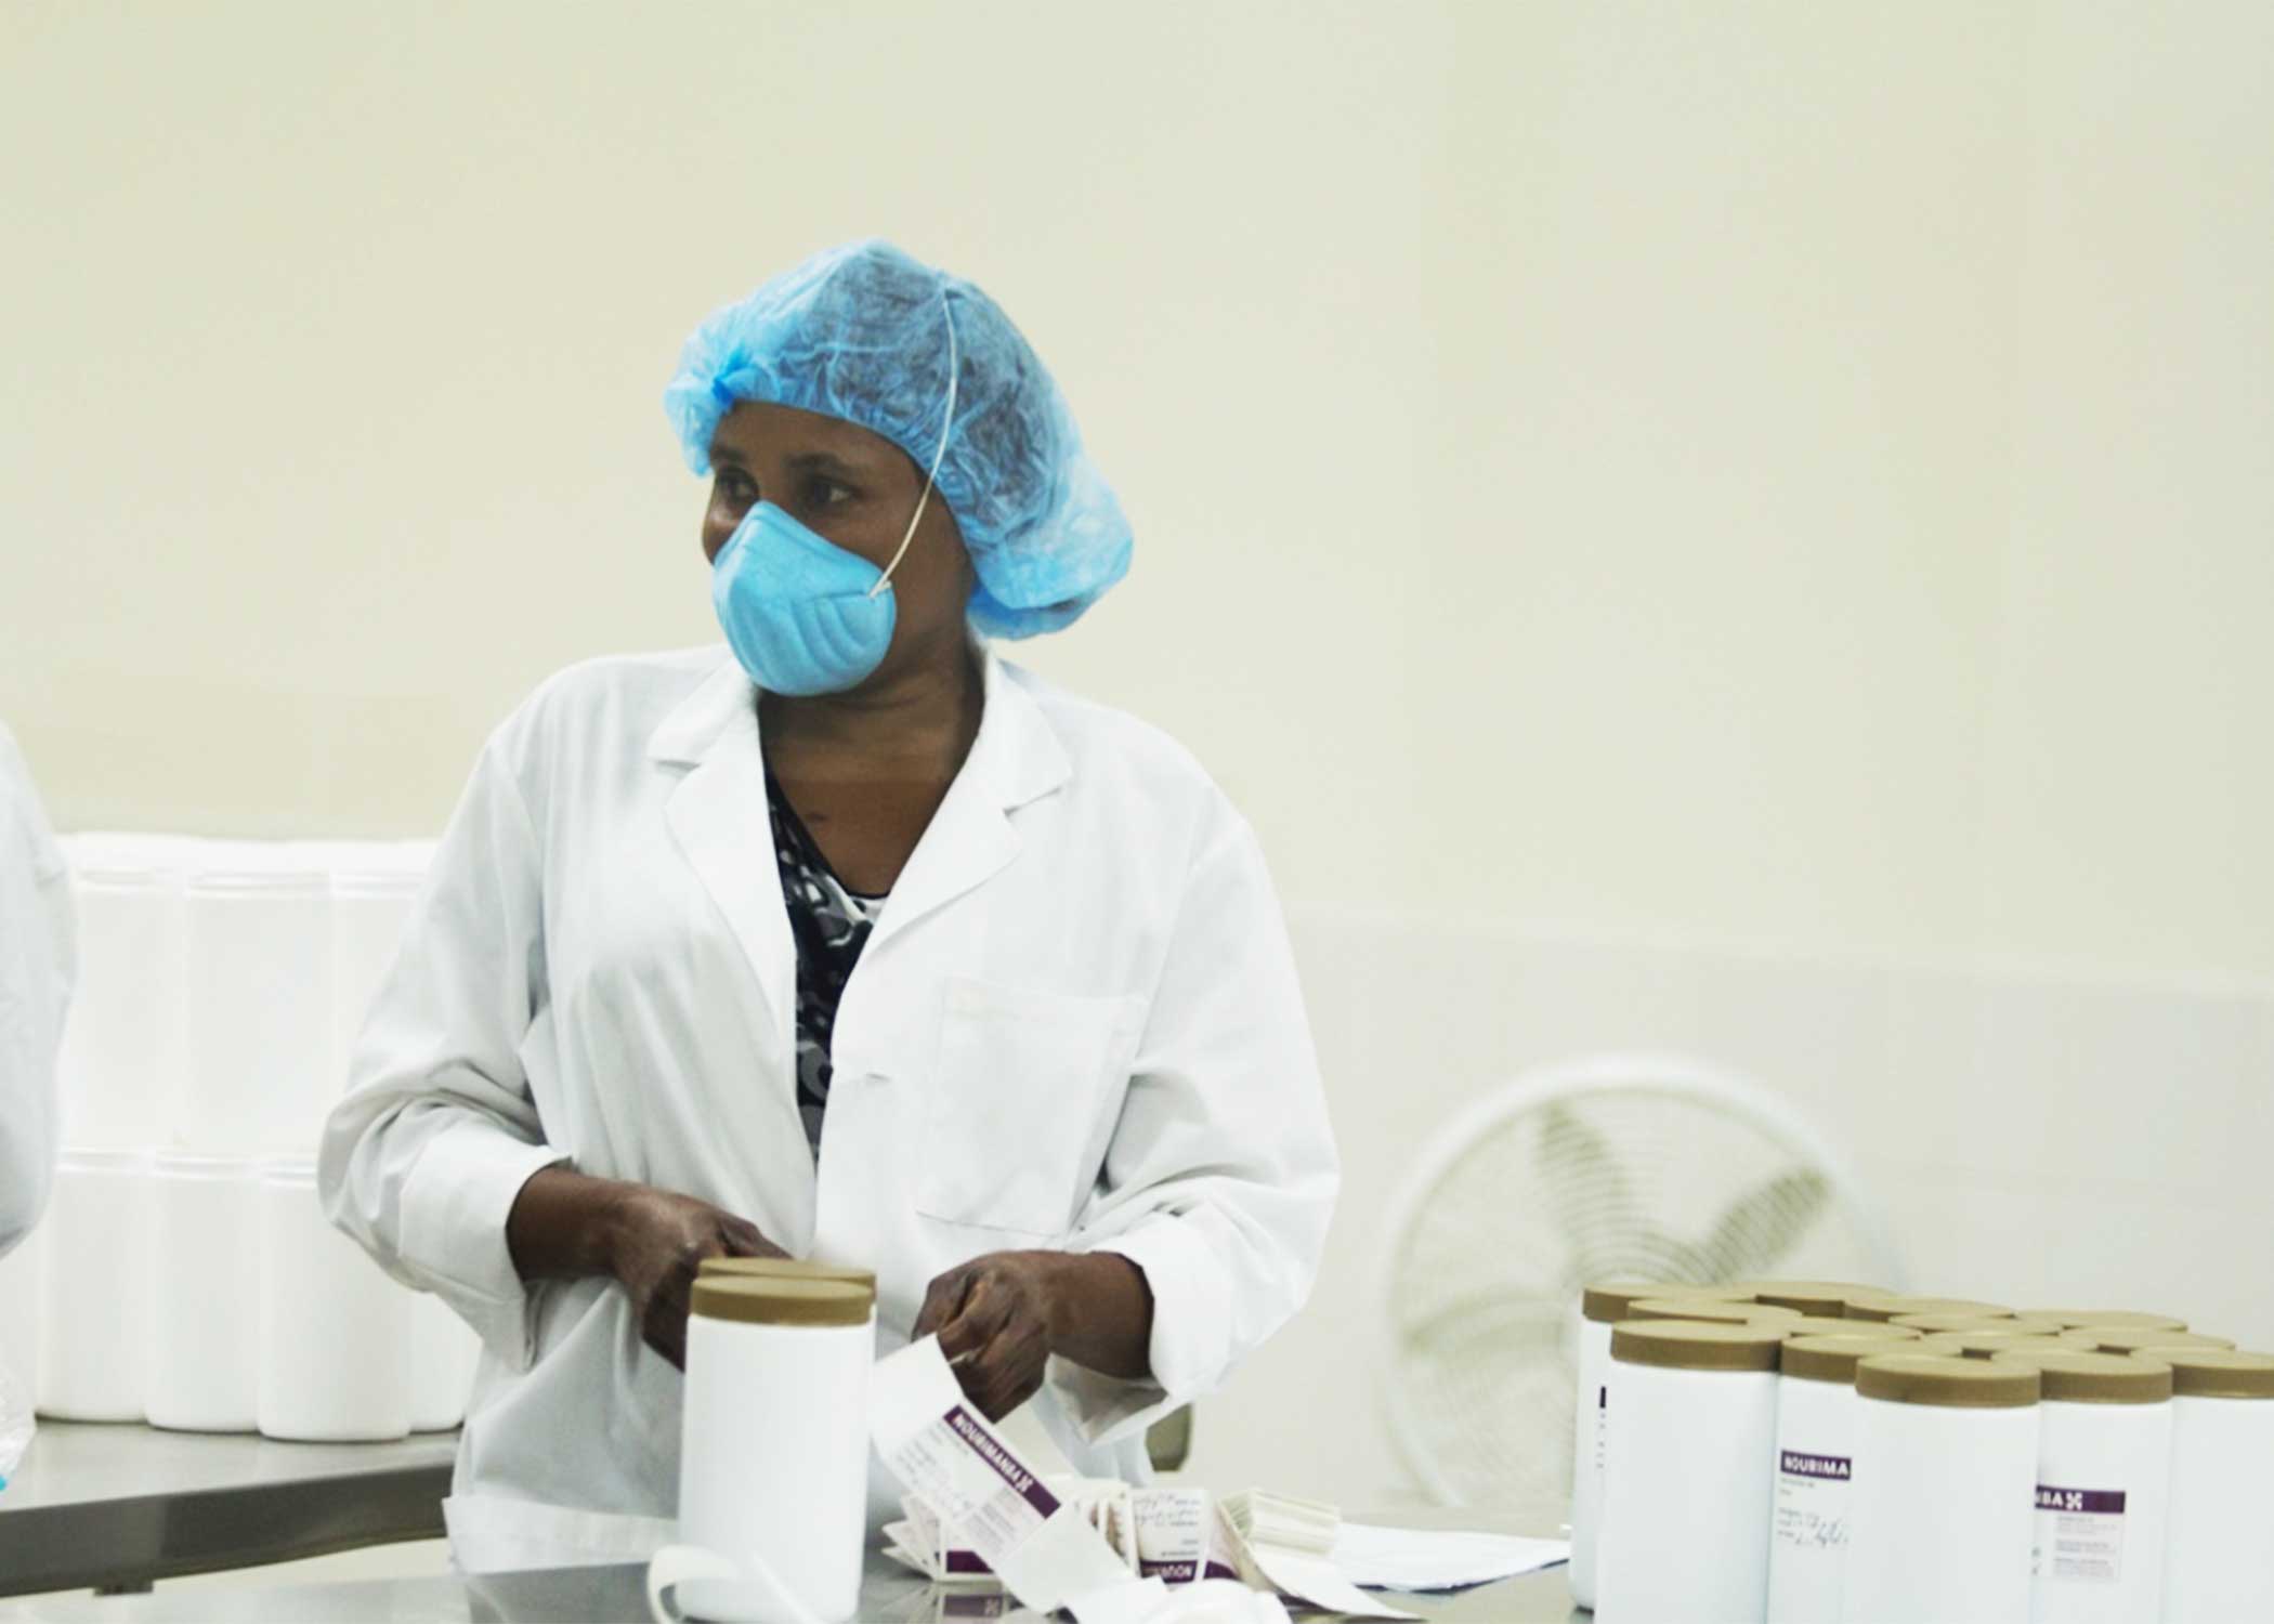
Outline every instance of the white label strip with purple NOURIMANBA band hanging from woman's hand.
<svg viewBox="0 0 2274 1624">
<path fill-rule="evenodd" d="M 1037 1613 L 1092 1606 L 1142 1581 L 1080 1506 L 1060 1501 L 978 1410 L 964 1403 L 939 1337 L 878 1360 L 869 1437 L 930 1522 L 953 1528 Z M 1135 1599 L 1135 1597 L 1132 1597 Z"/>
</svg>

